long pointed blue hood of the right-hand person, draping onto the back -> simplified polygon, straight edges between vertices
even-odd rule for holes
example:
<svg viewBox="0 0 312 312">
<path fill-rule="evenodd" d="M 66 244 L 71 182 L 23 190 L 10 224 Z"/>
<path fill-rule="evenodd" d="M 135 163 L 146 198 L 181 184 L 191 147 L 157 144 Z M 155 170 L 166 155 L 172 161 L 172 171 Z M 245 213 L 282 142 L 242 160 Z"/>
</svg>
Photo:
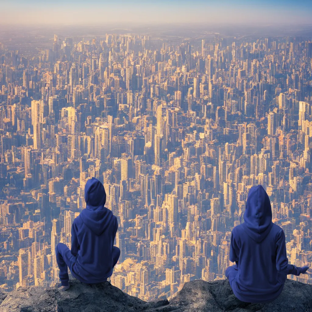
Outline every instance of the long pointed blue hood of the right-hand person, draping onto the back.
<svg viewBox="0 0 312 312">
<path fill-rule="evenodd" d="M 258 243 L 271 231 L 273 226 L 271 202 L 261 185 L 253 186 L 249 190 L 244 221 L 247 234 Z"/>
</svg>

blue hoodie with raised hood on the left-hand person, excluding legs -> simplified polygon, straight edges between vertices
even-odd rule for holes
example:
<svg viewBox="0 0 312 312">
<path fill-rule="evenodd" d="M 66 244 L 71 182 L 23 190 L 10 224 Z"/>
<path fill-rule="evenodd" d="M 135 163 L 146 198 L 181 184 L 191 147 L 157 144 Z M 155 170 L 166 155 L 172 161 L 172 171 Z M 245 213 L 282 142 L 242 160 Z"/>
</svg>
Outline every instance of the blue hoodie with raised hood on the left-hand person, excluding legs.
<svg viewBox="0 0 312 312">
<path fill-rule="evenodd" d="M 116 264 L 113 263 L 112 251 L 118 222 L 113 213 L 104 207 L 105 201 L 102 183 L 95 178 L 88 180 L 85 186 L 86 208 L 74 220 L 71 249 L 75 253 L 76 233 L 79 250 L 74 271 L 86 283 L 106 280 Z"/>
</svg>

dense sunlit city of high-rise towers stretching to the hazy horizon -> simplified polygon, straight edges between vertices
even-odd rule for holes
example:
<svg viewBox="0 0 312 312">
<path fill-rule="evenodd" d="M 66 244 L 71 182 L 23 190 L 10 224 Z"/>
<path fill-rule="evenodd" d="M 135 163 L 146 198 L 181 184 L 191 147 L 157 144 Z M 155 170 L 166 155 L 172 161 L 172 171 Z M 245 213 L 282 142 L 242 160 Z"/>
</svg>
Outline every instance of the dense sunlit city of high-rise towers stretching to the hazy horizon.
<svg viewBox="0 0 312 312">
<path fill-rule="evenodd" d="M 256 184 L 289 263 L 312 266 L 312 28 L 168 27 L 1 28 L 0 290 L 59 283 L 92 177 L 129 295 L 225 279 Z"/>
</svg>

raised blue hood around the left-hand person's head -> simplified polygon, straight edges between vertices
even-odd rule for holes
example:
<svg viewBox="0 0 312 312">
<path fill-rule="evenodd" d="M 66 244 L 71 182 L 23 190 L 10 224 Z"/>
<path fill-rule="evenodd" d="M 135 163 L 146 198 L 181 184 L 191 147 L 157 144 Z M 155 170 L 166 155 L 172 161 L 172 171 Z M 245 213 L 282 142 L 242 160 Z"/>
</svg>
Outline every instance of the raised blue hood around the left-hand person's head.
<svg viewBox="0 0 312 312">
<path fill-rule="evenodd" d="M 106 193 L 103 184 L 96 178 L 89 179 L 85 183 L 85 203 L 88 209 L 104 207 Z"/>
</svg>

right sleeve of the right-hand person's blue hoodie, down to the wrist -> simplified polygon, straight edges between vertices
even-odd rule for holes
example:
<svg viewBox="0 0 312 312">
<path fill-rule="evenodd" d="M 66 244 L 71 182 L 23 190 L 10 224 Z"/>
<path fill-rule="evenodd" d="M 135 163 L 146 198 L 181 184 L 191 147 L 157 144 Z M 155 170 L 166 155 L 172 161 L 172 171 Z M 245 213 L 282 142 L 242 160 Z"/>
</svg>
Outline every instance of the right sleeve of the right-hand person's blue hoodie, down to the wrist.
<svg viewBox="0 0 312 312">
<path fill-rule="evenodd" d="M 286 275 L 300 275 L 300 267 L 288 264 L 287 252 L 286 252 L 286 242 L 284 231 L 281 230 L 277 234 L 276 242 L 276 269 L 277 271 L 284 273 Z"/>
</svg>

